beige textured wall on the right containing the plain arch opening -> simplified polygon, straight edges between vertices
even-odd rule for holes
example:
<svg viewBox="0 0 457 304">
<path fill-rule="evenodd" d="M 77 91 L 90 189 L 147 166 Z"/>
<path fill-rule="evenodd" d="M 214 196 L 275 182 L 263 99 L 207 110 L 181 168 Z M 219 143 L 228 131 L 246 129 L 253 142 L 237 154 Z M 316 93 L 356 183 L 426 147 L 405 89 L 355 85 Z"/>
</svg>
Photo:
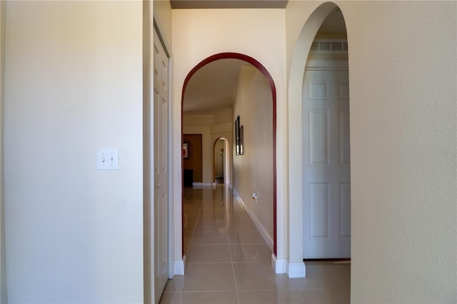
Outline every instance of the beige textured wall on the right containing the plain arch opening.
<svg viewBox="0 0 457 304">
<path fill-rule="evenodd" d="M 454 303 L 456 2 L 336 3 L 346 20 L 349 47 L 351 302 Z M 300 31 L 319 4 L 288 4 L 292 65 L 313 39 L 316 15 L 301 36 Z M 290 156 L 301 146 L 291 140 L 300 138 L 301 120 L 292 111 L 298 108 L 295 82 L 303 77 L 292 65 Z M 290 173 L 291 183 L 301 178 L 301 172 Z M 291 213 L 299 209 L 293 203 L 297 197 L 291 191 Z"/>
</svg>

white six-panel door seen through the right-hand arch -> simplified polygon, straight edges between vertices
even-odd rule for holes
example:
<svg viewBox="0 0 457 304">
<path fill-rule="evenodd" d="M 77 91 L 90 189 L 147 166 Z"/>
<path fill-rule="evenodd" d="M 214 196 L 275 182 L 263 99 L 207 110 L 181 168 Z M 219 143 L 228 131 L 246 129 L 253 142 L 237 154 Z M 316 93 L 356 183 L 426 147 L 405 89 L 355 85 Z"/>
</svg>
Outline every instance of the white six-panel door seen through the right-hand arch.
<svg viewBox="0 0 457 304">
<path fill-rule="evenodd" d="M 351 257 L 348 71 L 303 78 L 303 258 Z"/>
</svg>

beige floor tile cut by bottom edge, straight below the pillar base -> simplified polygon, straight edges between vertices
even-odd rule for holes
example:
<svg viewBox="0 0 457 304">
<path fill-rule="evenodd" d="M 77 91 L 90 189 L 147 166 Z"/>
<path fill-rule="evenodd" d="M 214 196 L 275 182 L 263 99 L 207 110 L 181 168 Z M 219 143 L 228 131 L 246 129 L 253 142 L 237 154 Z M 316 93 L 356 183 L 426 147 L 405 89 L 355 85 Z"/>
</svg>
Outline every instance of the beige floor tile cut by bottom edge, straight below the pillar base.
<svg viewBox="0 0 457 304">
<path fill-rule="evenodd" d="M 246 290 L 238 291 L 240 304 L 302 304 L 298 290 Z"/>
</svg>

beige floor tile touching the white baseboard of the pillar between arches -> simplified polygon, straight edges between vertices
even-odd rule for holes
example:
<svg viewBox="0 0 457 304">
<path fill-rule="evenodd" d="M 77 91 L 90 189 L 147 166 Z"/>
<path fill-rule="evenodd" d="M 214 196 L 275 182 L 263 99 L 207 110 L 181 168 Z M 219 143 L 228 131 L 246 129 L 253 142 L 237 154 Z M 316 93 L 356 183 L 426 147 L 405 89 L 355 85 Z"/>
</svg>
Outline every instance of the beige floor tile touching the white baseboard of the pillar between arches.
<svg viewBox="0 0 457 304">
<path fill-rule="evenodd" d="M 273 272 L 269 263 L 234 263 L 238 290 L 291 289 L 285 274 Z"/>
</svg>

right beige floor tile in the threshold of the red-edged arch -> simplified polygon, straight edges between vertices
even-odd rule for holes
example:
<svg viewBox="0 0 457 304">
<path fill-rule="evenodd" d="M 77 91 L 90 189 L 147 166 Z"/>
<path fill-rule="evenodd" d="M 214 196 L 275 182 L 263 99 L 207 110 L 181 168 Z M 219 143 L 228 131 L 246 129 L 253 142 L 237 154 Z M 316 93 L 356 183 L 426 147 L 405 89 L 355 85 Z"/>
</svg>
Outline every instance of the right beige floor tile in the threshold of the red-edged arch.
<svg viewBox="0 0 457 304">
<path fill-rule="evenodd" d="M 271 251 L 264 244 L 230 245 L 233 263 L 270 263 Z"/>
</svg>

